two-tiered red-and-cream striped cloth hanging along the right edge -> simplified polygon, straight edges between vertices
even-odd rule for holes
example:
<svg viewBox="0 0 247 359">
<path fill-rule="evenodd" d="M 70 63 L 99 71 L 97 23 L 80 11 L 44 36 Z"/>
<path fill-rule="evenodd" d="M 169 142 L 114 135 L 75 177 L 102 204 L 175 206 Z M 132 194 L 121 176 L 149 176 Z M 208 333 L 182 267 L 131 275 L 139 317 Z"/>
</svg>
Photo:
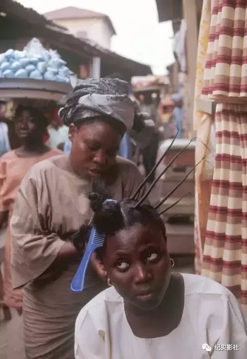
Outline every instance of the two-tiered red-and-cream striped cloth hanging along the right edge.
<svg viewBox="0 0 247 359">
<path fill-rule="evenodd" d="M 247 0 L 211 0 L 202 97 L 218 102 L 202 274 L 247 313 Z"/>
</svg>

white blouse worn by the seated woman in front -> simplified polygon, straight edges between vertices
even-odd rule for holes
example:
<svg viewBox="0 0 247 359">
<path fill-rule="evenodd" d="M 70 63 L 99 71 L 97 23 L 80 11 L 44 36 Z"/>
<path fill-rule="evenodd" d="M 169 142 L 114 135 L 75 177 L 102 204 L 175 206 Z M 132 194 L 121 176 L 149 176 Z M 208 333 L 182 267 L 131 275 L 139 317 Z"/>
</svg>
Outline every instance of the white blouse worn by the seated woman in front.
<svg viewBox="0 0 247 359">
<path fill-rule="evenodd" d="M 246 323 L 233 294 L 209 278 L 182 276 L 184 311 L 180 324 L 170 334 L 154 339 L 134 336 L 123 299 L 111 287 L 78 315 L 76 359 L 245 359 Z M 211 351 L 203 350 L 206 344 Z"/>
</svg>

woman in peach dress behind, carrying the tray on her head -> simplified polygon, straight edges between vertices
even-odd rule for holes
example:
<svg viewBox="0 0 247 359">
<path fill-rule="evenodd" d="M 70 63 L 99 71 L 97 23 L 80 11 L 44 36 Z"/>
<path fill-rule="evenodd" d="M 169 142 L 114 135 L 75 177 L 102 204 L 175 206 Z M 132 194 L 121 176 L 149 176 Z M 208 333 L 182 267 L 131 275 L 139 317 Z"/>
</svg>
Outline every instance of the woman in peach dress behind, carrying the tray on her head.
<svg viewBox="0 0 247 359">
<path fill-rule="evenodd" d="M 43 144 L 47 119 L 37 108 L 19 105 L 15 112 L 15 131 L 22 146 L 0 159 L 0 228 L 7 223 L 4 257 L 4 309 L 9 320 L 0 323 L 0 358 L 24 359 L 22 327 L 22 292 L 13 290 L 11 276 L 10 218 L 15 197 L 24 175 L 30 168 L 47 158 L 60 155 L 58 149 Z M 2 355 L 2 356 L 1 356 Z"/>
</svg>

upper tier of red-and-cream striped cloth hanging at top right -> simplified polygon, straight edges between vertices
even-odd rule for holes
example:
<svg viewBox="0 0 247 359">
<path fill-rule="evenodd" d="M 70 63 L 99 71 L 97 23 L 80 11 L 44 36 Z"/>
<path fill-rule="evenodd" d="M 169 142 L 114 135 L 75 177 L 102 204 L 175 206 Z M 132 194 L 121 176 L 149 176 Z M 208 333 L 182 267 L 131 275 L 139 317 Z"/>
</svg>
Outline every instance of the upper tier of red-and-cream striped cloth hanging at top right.
<svg viewBox="0 0 247 359">
<path fill-rule="evenodd" d="M 246 0 L 211 0 L 202 95 L 221 102 L 246 101 Z"/>
</svg>

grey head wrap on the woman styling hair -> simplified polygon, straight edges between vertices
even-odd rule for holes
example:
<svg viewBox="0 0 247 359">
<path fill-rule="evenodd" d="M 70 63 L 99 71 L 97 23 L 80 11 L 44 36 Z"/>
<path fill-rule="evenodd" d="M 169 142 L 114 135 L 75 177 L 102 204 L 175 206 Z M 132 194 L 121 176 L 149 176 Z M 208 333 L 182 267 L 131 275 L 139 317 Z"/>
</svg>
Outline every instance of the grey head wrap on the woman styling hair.
<svg viewBox="0 0 247 359">
<path fill-rule="evenodd" d="M 139 112 L 136 102 L 128 96 L 128 83 L 119 79 L 87 79 L 77 85 L 68 97 L 60 116 L 65 125 L 108 116 L 121 122 L 137 144 L 144 148 L 154 132 L 154 122 L 148 114 Z"/>
</svg>

